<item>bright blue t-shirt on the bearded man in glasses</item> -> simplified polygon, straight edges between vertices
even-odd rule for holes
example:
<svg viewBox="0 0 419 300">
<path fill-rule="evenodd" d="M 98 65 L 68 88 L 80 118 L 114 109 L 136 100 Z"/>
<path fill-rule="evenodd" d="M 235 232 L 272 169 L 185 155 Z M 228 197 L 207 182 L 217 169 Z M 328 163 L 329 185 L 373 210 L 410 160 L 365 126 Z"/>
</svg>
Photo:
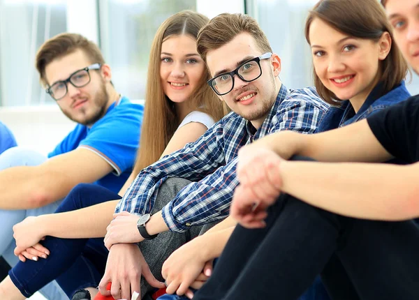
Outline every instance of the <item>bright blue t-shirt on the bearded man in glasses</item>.
<svg viewBox="0 0 419 300">
<path fill-rule="evenodd" d="M 144 107 L 133 104 L 126 97 L 112 103 L 105 116 L 91 128 L 78 124 L 48 158 L 77 148 L 94 151 L 113 168 L 114 172 L 94 182 L 115 193 L 131 174 L 137 153 Z M 83 172 L 83 170 L 80 170 Z"/>
</svg>

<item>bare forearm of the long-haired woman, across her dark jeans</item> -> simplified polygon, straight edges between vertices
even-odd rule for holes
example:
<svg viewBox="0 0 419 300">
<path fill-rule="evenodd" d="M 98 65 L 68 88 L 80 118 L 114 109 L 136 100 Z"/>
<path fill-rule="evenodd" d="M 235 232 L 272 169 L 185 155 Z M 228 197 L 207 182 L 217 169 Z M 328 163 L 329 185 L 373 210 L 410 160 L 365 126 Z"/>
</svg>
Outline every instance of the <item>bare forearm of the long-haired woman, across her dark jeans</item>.
<svg viewBox="0 0 419 300">
<path fill-rule="evenodd" d="M 105 237 L 119 200 L 96 204 L 84 209 L 38 216 L 44 236 L 64 239 Z"/>
</svg>

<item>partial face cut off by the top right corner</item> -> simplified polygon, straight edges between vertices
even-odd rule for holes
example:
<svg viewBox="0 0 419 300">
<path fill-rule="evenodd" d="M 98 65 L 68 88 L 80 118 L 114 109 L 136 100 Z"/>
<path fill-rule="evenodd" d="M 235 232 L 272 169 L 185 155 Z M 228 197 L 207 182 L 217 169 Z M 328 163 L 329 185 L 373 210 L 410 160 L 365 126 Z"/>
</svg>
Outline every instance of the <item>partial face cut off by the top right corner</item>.
<svg viewBox="0 0 419 300">
<path fill-rule="evenodd" d="M 394 29 L 395 43 L 404 59 L 419 74 L 419 1 L 388 0 L 385 10 Z"/>
</svg>

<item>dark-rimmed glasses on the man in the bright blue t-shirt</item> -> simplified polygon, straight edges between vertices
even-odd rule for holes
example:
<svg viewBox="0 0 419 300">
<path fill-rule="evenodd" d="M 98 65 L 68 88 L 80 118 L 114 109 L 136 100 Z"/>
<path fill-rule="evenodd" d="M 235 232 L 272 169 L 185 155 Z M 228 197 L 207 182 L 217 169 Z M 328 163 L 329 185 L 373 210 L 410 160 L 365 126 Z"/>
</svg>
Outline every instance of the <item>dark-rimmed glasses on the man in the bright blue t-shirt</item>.
<svg viewBox="0 0 419 300">
<path fill-rule="evenodd" d="M 52 84 L 51 87 L 46 89 L 46 92 L 55 100 L 60 100 L 61 98 L 64 98 L 68 92 L 68 82 L 73 84 L 73 87 L 84 87 L 89 84 L 91 80 L 89 70 L 100 70 L 101 67 L 101 63 L 94 63 L 81 70 L 76 70 L 66 80 L 57 81 Z"/>
</svg>

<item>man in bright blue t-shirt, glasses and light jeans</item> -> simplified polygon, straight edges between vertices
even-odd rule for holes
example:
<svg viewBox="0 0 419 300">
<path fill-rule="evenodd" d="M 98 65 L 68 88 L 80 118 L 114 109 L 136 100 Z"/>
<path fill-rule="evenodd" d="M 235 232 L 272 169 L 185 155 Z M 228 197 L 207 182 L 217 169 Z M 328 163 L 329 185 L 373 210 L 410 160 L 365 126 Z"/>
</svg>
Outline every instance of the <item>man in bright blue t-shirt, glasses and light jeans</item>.
<svg viewBox="0 0 419 300">
<path fill-rule="evenodd" d="M 0 155 L 0 255 L 11 265 L 18 261 L 13 225 L 53 213 L 78 183 L 119 192 L 131 174 L 142 121 L 142 105 L 115 90 L 110 66 L 83 36 L 64 33 L 47 40 L 36 68 L 47 93 L 78 124 L 48 157 L 20 147 Z M 66 299 L 52 286 L 45 293 Z"/>
</svg>

